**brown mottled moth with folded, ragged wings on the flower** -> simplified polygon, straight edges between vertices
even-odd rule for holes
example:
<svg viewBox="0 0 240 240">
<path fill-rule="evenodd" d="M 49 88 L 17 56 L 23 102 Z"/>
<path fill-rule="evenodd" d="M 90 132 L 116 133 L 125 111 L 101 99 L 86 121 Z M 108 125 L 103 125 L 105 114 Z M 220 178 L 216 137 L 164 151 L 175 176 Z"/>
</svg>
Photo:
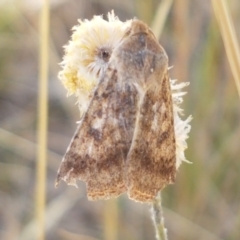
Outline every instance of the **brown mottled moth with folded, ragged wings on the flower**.
<svg viewBox="0 0 240 240">
<path fill-rule="evenodd" d="M 151 202 L 175 175 L 168 57 L 148 26 L 133 20 L 94 90 L 56 185 L 80 179 L 91 200 L 127 192 Z"/>
</svg>

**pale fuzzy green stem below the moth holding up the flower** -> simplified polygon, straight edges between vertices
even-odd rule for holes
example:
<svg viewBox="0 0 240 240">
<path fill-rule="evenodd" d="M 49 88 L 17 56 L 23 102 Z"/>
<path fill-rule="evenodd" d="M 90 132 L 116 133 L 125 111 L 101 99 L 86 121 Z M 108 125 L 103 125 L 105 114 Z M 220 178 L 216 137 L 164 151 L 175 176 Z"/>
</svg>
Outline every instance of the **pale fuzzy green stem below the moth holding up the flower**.
<svg viewBox="0 0 240 240">
<path fill-rule="evenodd" d="M 152 203 L 152 218 L 156 230 L 157 240 L 168 240 L 167 229 L 164 225 L 164 217 L 162 210 L 161 192 L 158 193 L 157 197 Z"/>
</svg>

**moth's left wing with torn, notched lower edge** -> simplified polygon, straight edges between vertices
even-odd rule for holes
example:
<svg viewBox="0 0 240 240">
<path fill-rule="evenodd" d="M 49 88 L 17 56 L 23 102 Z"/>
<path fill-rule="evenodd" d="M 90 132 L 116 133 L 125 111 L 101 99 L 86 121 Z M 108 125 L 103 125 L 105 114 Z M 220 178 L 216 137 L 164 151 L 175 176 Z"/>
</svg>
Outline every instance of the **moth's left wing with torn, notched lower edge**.
<svg viewBox="0 0 240 240">
<path fill-rule="evenodd" d="M 110 64 L 113 65 L 113 64 Z M 60 165 L 56 184 L 63 179 L 86 182 L 90 200 L 126 192 L 124 166 L 135 123 L 137 92 L 119 82 L 109 65 Z"/>
</svg>

